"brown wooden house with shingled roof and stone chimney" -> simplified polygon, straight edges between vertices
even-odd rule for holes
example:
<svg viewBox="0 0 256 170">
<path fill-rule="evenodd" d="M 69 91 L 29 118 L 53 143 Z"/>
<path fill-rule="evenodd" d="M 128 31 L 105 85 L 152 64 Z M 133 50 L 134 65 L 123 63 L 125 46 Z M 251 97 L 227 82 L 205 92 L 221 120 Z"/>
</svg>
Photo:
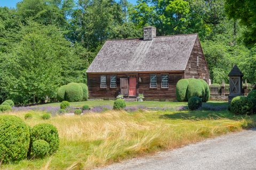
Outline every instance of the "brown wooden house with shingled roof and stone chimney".
<svg viewBox="0 0 256 170">
<path fill-rule="evenodd" d="M 145 27 L 143 38 L 107 40 L 87 69 L 91 99 L 127 98 L 174 100 L 182 78 L 204 79 L 209 69 L 197 34 L 156 36 Z"/>
</svg>

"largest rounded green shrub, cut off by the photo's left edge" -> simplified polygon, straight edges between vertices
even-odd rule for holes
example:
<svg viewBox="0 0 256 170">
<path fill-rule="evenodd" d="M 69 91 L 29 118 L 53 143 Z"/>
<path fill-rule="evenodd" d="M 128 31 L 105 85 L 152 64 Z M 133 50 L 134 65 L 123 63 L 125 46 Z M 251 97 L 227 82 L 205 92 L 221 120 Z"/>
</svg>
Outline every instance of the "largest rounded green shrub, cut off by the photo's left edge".
<svg viewBox="0 0 256 170">
<path fill-rule="evenodd" d="M 0 115 L 0 160 L 2 164 L 25 159 L 29 149 L 29 127 L 21 118 Z"/>
</svg>

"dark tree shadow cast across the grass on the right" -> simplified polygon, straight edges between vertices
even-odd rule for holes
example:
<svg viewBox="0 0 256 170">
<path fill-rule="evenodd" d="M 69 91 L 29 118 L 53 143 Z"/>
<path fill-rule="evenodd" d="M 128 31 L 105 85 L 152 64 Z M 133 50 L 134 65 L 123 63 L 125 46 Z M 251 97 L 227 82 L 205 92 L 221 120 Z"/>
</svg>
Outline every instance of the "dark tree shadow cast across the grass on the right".
<svg viewBox="0 0 256 170">
<path fill-rule="evenodd" d="M 246 116 L 246 115 L 234 115 L 229 111 L 186 111 L 186 112 L 174 112 L 173 114 L 164 114 L 160 115 L 159 118 L 163 119 L 173 119 L 173 120 L 218 120 L 221 118 L 228 118 L 230 120 L 243 120 L 253 118 L 255 116 Z"/>
</svg>

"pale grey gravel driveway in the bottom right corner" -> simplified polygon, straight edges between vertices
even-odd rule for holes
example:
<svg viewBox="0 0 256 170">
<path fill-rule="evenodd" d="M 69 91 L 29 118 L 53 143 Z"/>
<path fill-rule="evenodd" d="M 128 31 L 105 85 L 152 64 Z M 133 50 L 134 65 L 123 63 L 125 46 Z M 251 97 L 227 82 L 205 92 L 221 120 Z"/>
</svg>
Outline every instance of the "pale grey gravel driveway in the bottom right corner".
<svg viewBox="0 0 256 170">
<path fill-rule="evenodd" d="M 256 129 L 99 169 L 256 169 Z"/>
</svg>

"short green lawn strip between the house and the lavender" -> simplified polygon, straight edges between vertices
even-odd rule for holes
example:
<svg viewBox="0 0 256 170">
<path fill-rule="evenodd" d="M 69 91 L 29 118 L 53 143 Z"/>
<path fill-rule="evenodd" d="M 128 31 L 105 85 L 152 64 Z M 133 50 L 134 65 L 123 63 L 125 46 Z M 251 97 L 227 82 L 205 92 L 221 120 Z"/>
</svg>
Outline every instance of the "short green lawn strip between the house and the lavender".
<svg viewBox="0 0 256 170">
<path fill-rule="evenodd" d="M 109 105 L 113 106 L 114 100 L 89 100 L 89 101 L 78 101 L 78 102 L 70 102 L 70 105 L 73 107 L 82 107 L 83 105 L 88 105 L 89 107 L 95 106 L 104 106 Z M 228 103 L 226 101 L 208 101 L 207 104 L 212 106 L 227 106 Z M 171 101 L 130 101 L 126 102 L 126 106 L 145 106 L 145 107 L 179 107 L 179 106 L 187 106 L 187 102 L 171 102 Z M 205 104 L 203 104 L 204 106 Z M 37 106 L 60 106 L 60 103 L 49 103 L 44 105 Z"/>
</svg>

